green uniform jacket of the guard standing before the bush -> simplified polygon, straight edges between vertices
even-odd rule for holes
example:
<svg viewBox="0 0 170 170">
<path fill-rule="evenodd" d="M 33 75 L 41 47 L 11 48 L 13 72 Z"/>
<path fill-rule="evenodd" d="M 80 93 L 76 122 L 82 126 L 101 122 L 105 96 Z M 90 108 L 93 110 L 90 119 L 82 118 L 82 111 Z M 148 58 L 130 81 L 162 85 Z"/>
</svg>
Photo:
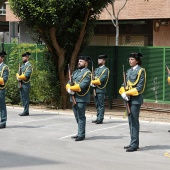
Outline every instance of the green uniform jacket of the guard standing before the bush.
<svg viewBox="0 0 170 170">
<path fill-rule="evenodd" d="M 21 81 L 22 87 L 30 87 L 30 78 L 32 75 L 32 65 L 30 62 L 27 62 L 26 64 L 22 64 L 21 65 L 21 72 L 25 75 L 25 77 L 27 78 L 27 80 L 25 81 Z"/>
</svg>

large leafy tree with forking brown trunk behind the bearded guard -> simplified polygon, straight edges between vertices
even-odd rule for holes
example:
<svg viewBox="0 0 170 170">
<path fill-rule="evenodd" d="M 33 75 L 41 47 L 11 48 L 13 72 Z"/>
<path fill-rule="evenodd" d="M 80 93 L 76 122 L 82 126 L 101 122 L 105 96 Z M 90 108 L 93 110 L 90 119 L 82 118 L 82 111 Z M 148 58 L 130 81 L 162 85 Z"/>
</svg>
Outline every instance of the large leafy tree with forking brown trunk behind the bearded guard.
<svg viewBox="0 0 170 170">
<path fill-rule="evenodd" d="M 93 34 L 95 21 L 110 0 L 9 0 L 14 14 L 46 44 L 62 86 L 70 63 L 74 70 L 80 50 Z M 66 95 L 66 93 L 64 94 Z"/>
</svg>

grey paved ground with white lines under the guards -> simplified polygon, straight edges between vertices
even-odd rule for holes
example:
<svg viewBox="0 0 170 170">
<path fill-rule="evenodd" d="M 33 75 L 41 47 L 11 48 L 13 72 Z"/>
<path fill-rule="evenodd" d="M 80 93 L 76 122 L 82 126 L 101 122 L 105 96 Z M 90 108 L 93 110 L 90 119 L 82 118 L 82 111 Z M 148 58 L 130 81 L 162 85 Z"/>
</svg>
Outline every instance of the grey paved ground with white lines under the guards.
<svg viewBox="0 0 170 170">
<path fill-rule="evenodd" d="M 31 108 L 20 117 L 20 107 L 8 106 L 6 129 L 0 129 L 0 169 L 8 170 L 160 170 L 170 168 L 170 123 L 140 121 L 140 149 L 127 153 L 127 119 L 108 116 L 92 124 L 87 111 L 86 139 L 75 142 L 72 110 Z"/>
</svg>

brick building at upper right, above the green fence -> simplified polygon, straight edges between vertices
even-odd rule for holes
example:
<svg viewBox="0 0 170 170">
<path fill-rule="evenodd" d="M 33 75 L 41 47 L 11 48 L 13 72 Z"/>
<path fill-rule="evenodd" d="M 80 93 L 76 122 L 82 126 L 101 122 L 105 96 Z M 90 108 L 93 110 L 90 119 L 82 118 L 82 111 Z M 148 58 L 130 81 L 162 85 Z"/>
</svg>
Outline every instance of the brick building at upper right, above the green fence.
<svg viewBox="0 0 170 170">
<path fill-rule="evenodd" d="M 115 2 L 115 13 L 124 2 Z M 108 9 L 112 11 L 111 6 Z M 104 9 L 91 44 L 115 44 L 116 31 L 110 18 Z M 170 46 L 170 0 L 128 0 L 120 12 L 119 27 L 120 45 Z"/>
</svg>

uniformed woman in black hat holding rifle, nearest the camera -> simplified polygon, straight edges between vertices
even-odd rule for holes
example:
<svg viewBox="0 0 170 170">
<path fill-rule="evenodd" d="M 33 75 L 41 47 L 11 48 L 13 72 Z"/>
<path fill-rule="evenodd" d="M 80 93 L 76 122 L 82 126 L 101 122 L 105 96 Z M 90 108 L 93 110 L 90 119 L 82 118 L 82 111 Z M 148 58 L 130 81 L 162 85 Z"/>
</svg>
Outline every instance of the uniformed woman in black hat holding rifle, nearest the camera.
<svg viewBox="0 0 170 170">
<path fill-rule="evenodd" d="M 130 144 L 124 146 L 126 152 L 134 152 L 139 148 L 139 113 L 141 104 L 143 104 L 142 93 L 145 89 L 146 72 L 141 67 L 141 53 L 131 53 L 129 56 L 129 65 L 131 68 L 127 70 L 126 84 L 119 90 L 122 98 L 129 102 L 130 114 L 128 115 L 130 129 Z"/>
</svg>

